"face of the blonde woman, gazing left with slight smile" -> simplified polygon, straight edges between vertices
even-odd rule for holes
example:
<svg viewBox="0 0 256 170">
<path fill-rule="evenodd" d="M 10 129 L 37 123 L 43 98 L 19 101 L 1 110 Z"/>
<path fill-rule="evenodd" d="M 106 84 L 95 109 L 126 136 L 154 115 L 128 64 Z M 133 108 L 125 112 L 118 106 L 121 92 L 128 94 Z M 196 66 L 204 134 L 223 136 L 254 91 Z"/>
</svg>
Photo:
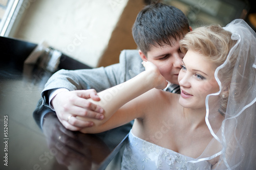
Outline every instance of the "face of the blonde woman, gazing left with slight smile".
<svg viewBox="0 0 256 170">
<path fill-rule="evenodd" d="M 178 81 L 181 89 L 179 103 L 185 108 L 205 108 L 208 94 L 219 91 L 214 77 L 216 65 L 198 52 L 188 50 L 182 60 Z"/>
</svg>

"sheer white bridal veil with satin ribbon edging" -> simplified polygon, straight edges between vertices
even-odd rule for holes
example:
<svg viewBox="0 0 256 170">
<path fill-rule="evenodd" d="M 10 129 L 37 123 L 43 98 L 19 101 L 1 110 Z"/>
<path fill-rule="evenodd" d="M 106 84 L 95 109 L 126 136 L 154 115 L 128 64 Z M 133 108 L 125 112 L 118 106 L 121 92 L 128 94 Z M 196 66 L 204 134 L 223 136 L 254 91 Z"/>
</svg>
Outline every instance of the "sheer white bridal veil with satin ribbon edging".
<svg viewBox="0 0 256 170">
<path fill-rule="evenodd" d="M 198 161 L 216 160 L 215 169 L 256 169 L 256 34 L 242 19 L 224 29 L 237 43 L 215 71 L 220 91 L 206 98 L 214 138 Z"/>
</svg>

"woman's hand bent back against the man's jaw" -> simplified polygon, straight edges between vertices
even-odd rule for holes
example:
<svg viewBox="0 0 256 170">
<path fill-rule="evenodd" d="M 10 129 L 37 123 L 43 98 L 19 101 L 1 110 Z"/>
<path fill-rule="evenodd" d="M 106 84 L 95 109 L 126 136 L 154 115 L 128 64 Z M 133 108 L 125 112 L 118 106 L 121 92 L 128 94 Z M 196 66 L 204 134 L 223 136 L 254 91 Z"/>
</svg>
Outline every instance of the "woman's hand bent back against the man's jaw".
<svg viewBox="0 0 256 170">
<path fill-rule="evenodd" d="M 151 79 L 154 83 L 154 87 L 157 89 L 164 89 L 168 83 L 165 78 L 160 74 L 157 66 L 150 61 L 143 61 L 142 64 L 145 67 L 145 70 L 149 72 Z"/>
</svg>

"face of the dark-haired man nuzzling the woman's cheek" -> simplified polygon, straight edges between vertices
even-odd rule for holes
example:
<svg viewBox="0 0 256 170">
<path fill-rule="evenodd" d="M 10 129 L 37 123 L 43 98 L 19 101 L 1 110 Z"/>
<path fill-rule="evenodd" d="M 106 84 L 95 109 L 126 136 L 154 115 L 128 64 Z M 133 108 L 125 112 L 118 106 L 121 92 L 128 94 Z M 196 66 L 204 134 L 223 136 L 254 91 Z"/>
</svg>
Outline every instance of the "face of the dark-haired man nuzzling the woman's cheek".
<svg viewBox="0 0 256 170">
<path fill-rule="evenodd" d="M 180 51 L 179 39 L 172 46 L 167 44 L 152 46 L 151 50 L 147 52 L 147 56 L 143 55 L 141 51 L 139 53 L 142 60 L 154 63 L 167 81 L 178 84 L 178 75 L 185 55 Z"/>
</svg>

